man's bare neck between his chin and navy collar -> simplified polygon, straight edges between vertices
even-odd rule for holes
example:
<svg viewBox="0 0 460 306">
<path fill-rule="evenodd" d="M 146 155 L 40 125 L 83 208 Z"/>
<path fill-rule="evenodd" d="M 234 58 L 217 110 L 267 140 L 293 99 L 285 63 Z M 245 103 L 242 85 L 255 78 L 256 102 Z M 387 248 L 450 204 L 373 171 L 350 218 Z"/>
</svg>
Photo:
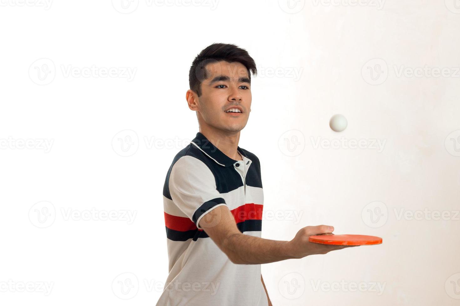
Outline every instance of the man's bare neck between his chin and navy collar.
<svg viewBox="0 0 460 306">
<path fill-rule="evenodd" d="M 237 152 L 238 142 L 240 141 L 240 131 L 226 132 L 213 128 L 200 127 L 200 133 L 203 134 L 213 145 L 215 145 L 226 156 L 239 161 L 242 159 Z"/>
</svg>

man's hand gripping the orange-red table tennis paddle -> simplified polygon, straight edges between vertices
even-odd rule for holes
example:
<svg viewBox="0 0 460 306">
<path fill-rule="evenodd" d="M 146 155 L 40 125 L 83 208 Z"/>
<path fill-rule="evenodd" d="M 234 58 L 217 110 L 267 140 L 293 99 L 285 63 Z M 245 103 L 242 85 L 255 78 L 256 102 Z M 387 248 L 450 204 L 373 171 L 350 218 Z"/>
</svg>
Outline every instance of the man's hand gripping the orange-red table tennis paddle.
<svg viewBox="0 0 460 306">
<path fill-rule="evenodd" d="M 333 250 L 341 250 L 355 245 L 321 245 L 308 241 L 309 236 L 334 235 L 334 227 L 328 225 L 307 226 L 301 228 L 294 239 L 288 242 L 294 258 L 303 258 L 309 255 L 326 254 Z"/>
</svg>

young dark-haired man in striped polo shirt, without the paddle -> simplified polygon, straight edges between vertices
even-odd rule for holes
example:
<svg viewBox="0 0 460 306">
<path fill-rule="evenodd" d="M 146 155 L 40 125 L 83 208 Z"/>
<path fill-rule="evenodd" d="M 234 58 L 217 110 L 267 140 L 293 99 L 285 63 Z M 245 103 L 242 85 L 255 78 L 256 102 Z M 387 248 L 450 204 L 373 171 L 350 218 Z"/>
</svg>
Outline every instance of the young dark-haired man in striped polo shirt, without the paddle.
<svg viewBox="0 0 460 306">
<path fill-rule="evenodd" d="M 313 244 L 331 226 L 301 228 L 290 241 L 262 239 L 264 195 L 257 156 L 238 146 L 251 111 L 246 50 L 213 44 L 190 67 L 186 100 L 199 132 L 173 159 L 163 202 L 169 275 L 157 306 L 268 306 L 260 264 L 326 254 Z"/>
</svg>

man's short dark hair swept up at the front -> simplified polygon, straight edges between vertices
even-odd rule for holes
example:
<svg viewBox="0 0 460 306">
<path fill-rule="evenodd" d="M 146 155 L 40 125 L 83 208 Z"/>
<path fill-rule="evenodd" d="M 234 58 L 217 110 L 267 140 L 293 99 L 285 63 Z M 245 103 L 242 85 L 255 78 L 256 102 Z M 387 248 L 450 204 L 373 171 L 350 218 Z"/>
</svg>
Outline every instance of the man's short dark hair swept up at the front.
<svg viewBox="0 0 460 306">
<path fill-rule="evenodd" d="M 201 82 L 208 78 L 206 65 L 216 61 L 240 62 L 246 67 L 251 81 L 251 72 L 257 74 L 256 63 L 246 50 L 233 44 L 215 43 L 207 46 L 195 57 L 189 71 L 190 89 L 201 96 Z"/>
</svg>

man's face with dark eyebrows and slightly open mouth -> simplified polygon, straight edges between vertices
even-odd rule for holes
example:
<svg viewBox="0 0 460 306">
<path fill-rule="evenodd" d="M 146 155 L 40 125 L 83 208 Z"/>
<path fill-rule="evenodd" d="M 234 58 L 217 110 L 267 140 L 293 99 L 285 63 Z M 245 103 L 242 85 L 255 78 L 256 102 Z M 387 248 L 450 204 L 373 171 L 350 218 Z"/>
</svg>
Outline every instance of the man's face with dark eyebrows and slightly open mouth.
<svg viewBox="0 0 460 306">
<path fill-rule="evenodd" d="M 206 71 L 201 96 L 196 97 L 198 119 L 220 130 L 241 131 L 249 119 L 252 100 L 246 67 L 239 62 L 216 61 L 208 64 Z M 241 112 L 226 112 L 231 108 Z"/>
</svg>

